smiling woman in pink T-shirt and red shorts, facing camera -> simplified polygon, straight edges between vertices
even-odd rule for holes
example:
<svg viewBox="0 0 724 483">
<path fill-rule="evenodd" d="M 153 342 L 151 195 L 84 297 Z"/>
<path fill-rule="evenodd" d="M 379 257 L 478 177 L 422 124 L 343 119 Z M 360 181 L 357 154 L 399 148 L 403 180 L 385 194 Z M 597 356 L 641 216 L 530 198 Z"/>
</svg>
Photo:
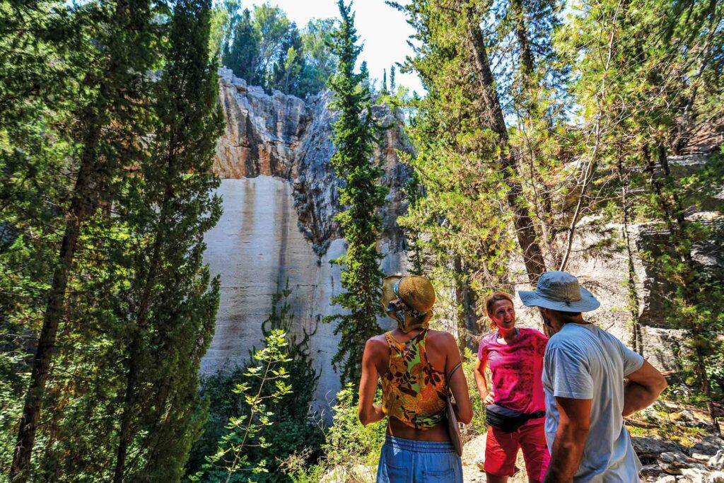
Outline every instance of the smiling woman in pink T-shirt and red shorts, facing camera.
<svg viewBox="0 0 724 483">
<path fill-rule="evenodd" d="M 545 440 L 543 355 L 548 338 L 536 329 L 515 328 L 513 298 L 496 292 L 485 303 L 493 332 L 480 341 L 475 380 L 488 421 L 485 474 L 488 483 L 513 476 L 523 450 L 528 481 L 542 482 L 550 462 Z M 492 374 L 488 390 L 485 368 Z"/>
</svg>

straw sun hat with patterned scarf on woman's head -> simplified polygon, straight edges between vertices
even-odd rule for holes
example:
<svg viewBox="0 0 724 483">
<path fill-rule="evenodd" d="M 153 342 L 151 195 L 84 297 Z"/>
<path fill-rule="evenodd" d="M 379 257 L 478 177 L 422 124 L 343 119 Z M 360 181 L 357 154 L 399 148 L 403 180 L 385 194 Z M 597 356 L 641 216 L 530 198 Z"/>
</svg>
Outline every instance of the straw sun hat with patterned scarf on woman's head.
<svg viewBox="0 0 724 483">
<path fill-rule="evenodd" d="M 401 314 L 393 307 L 400 300 L 405 306 L 405 322 L 400 323 Z M 390 304 L 392 302 L 392 305 Z M 432 306 L 435 303 L 435 290 L 432 283 L 418 275 L 390 275 L 382 280 L 382 307 L 390 319 L 395 320 L 403 332 L 417 327 L 427 327 L 432 319 Z M 390 310 L 392 308 L 392 310 Z"/>
</svg>

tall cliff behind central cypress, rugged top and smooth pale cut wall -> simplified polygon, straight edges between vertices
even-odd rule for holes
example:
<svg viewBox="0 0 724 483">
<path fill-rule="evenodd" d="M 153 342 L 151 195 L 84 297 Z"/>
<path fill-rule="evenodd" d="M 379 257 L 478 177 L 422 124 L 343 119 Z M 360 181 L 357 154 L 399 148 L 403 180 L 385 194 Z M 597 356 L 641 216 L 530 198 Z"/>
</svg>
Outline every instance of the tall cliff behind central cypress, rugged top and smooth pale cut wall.
<svg viewBox="0 0 724 483">
<path fill-rule="evenodd" d="M 211 374 L 248 360 L 261 344 L 261 323 L 271 309 L 271 296 L 291 290 L 295 330 L 315 332 L 311 355 L 321 374 L 317 407 L 325 408 L 339 390 L 332 371 L 338 339 L 332 324 L 321 318 L 336 313 L 329 298 L 340 292 L 340 267 L 329 261 L 344 253 L 345 243 L 334 214 L 340 210 L 330 159 L 329 138 L 335 113 L 329 95 L 303 101 L 275 91 L 248 86 L 230 70 L 220 70 L 219 97 L 227 120 L 216 147 L 214 171 L 222 178 L 219 195 L 224 214 L 206 235 L 206 261 L 222 282 L 216 334 L 201 371 Z M 376 160 L 384 165 L 390 188 L 383 238 L 385 272 L 406 270 L 407 256 L 397 214 L 406 209 L 402 188 L 408 180 L 396 150 L 410 146 L 400 114 L 378 109 L 384 130 Z"/>
</svg>

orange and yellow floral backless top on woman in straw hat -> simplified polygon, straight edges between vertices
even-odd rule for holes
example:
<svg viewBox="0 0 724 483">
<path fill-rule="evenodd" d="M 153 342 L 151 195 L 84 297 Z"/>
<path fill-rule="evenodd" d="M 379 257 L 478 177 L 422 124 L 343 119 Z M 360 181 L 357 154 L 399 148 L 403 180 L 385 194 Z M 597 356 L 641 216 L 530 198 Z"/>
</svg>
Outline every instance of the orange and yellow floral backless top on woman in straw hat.
<svg viewBox="0 0 724 483">
<path fill-rule="evenodd" d="M 400 343 L 384 334 L 390 348 L 390 366 L 382 376 L 382 411 L 415 429 L 429 429 L 445 419 L 445 373 L 433 369 L 427 358 L 428 329 Z"/>
</svg>

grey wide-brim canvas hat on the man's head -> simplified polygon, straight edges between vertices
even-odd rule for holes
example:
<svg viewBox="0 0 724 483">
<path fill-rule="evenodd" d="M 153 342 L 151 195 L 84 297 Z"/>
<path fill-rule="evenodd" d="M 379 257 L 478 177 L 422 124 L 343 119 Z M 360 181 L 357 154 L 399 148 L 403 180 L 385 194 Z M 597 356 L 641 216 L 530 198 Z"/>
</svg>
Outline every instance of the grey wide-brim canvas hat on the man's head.
<svg viewBox="0 0 724 483">
<path fill-rule="evenodd" d="M 568 272 L 544 272 L 533 292 L 518 290 L 523 305 L 562 312 L 589 312 L 601 303 Z"/>
</svg>

